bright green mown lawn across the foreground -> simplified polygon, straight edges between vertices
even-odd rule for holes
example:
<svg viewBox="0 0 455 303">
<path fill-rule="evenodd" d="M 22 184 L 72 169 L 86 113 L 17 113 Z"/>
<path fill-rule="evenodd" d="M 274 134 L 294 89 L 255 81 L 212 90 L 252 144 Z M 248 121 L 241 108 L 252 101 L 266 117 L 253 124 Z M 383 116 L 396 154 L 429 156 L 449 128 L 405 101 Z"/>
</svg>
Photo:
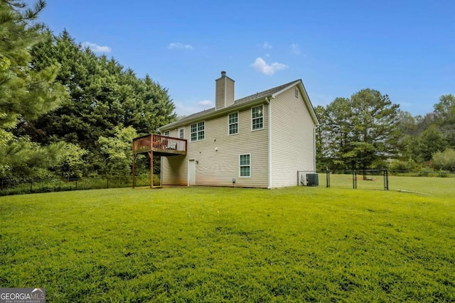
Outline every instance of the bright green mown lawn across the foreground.
<svg viewBox="0 0 455 303">
<path fill-rule="evenodd" d="M 0 287 L 48 302 L 454 302 L 454 206 L 323 187 L 0 197 Z"/>
</svg>

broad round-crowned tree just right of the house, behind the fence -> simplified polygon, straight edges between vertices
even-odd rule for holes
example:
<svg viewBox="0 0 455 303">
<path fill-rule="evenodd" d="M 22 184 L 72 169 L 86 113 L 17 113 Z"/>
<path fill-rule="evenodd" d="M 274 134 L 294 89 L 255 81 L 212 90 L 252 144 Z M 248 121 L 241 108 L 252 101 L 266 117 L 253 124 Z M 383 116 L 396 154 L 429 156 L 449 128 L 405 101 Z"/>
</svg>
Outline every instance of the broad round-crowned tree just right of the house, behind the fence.
<svg viewBox="0 0 455 303">
<path fill-rule="evenodd" d="M 387 95 L 363 89 L 350 99 L 336 98 L 320 117 L 319 145 L 336 169 L 380 166 L 397 153 L 397 104 Z M 323 112 L 319 109 L 319 112 Z M 322 155 L 322 153 L 321 153 Z"/>
</svg>

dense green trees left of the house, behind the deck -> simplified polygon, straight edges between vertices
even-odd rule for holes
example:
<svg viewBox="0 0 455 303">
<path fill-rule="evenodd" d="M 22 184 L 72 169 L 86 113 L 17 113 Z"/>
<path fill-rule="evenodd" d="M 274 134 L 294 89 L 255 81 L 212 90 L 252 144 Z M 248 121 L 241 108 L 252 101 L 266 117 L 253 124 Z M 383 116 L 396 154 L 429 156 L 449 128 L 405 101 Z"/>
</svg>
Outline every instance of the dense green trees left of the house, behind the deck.
<svg viewBox="0 0 455 303">
<path fill-rule="evenodd" d="M 130 175 L 132 138 L 176 119 L 168 89 L 54 35 L 44 8 L 0 0 L 0 177 Z"/>
</svg>

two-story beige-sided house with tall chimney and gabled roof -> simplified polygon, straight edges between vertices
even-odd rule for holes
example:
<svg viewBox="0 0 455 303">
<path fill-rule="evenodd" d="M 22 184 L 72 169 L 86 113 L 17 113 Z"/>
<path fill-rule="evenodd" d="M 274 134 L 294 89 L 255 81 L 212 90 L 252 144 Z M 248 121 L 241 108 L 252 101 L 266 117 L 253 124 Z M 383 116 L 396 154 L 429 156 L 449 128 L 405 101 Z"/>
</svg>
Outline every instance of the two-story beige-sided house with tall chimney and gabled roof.
<svg viewBox="0 0 455 303">
<path fill-rule="evenodd" d="M 221 72 L 213 109 L 159 128 L 186 140 L 186 155 L 161 157 L 163 185 L 271 189 L 316 170 L 318 119 L 301 80 L 237 100 L 234 84 Z"/>
</svg>

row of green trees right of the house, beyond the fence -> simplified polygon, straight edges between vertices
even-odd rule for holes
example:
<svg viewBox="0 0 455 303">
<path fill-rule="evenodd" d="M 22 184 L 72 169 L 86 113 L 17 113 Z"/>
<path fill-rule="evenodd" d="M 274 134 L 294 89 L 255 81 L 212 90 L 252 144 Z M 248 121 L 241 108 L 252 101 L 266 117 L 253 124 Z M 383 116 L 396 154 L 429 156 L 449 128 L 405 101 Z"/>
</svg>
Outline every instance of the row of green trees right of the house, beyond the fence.
<svg viewBox="0 0 455 303">
<path fill-rule="evenodd" d="M 443 94 L 434 111 L 412 116 L 387 94 L 362 89 L 316 106 L 319 170 L 455 171 L 455 97 Z"/>
</svg>

